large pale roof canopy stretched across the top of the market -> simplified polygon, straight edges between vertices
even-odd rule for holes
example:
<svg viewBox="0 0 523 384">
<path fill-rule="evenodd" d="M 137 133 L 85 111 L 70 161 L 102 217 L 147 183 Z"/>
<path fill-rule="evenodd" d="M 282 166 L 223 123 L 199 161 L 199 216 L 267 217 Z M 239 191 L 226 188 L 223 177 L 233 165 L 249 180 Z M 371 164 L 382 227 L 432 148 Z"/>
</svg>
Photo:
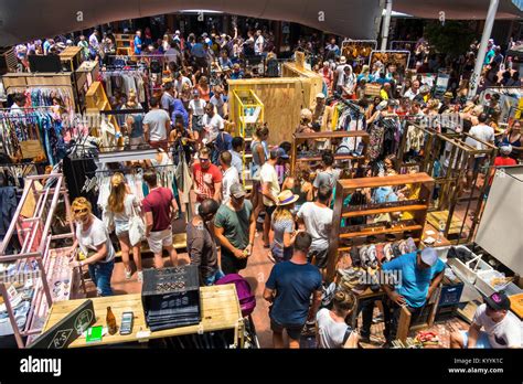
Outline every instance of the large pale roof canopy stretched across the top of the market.
<svg viewBox="0 0 523 384">
<path fill-rule="evenodd" d="M 417 18 L 484 19 L 489 0 L 393 0 Z M 0 0 L 0 46 L 111 21 L 207 9 L 301 23 L 351 39 L 376 39 L 381 0 Z M 520 4 L 520 7 L 516 6 Z M 521 0 L 500 0 L 497 19 L 523 17 Z"/>
</svg>

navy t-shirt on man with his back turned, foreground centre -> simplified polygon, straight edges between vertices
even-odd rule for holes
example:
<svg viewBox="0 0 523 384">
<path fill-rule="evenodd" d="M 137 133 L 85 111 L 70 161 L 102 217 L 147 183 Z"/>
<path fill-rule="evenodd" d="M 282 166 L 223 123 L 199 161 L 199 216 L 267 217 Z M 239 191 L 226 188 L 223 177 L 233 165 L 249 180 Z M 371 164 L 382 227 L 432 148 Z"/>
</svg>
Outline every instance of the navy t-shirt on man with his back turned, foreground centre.
<svg viewBox="0 0 523 384">
<path fill-rule="evenodd" d="M 276 290 L 270 318 L 282 326 L 301 327 L 307 321 L 310 297 L 321 289 L 321 274 L 311 264 L 276 264 L 265 284 Z"/>
</svg>

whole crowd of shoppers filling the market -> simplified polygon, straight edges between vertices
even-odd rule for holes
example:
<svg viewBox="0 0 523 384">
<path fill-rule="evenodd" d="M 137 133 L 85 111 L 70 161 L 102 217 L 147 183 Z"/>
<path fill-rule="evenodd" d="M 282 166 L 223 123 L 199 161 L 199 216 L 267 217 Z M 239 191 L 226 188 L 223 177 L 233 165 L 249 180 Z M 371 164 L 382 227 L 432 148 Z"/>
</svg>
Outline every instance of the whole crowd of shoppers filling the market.
<svg viewBox="0 0 523 384">
<path fill-rule="evenodd" d="M 102 61 L 115 52 L 115 44 L 110 31 L 100 38 L 97 30 L 88 38 L 81 35 L 76 42 L 86 58 Z M 28 54 L 53 54 L 67 45 L 75 45 L 75 42 L 68 40 L 61 44 L 47 39 L 43 43 L 19 46 L 18 53 L 23 62 Z M 330 130 L 332 99 L 351 100 L 365 116 L 365 125 L 385 114 L 423 118 L 459 113 L 465 121 L 461 129 L 472 136 L 472 146 L 481 149 L 481 143 L 473 138 L 500 146 L 497 164 L 511 164 L 522 159 L 521 121 L 513 120 L 506 131 L 501 131 L 499 99 L 492 98 L 483 106 L 478 98 L 467 98 L 477 46 L 471 46 L 470 52 L 453 62 L 442 55 L 421 57 L 415 78 L 403 78 L 395 64 L 377 62 L 373 67 L 353 67 L 342 55 L 335 38 L 321 46 L 319 36 L 312 35 L 300 40 L 298 49 L 321 58 L 313 68 L 323 77 L 324 86 L 313 105 L 301 111 L 297 132 Z M 270 127 L 257 127 L 249 143 L 231 134 L 234 127 L 230 121 L 226 81 L 250 76 L 239 65 L 243 55 L 276 58 L 274 36 L 258 30 L 249 31 L 247 38 L 242 39 L 235 29 L 233 36 L 204 33 L 201 36 L 190 34 L 185 39 L 179 31 L 167 31 L 163 39 L 154 41 L 146 29 L 143 33 L 136 32 L 134 54 L 137 57 L 163 55 L 167 60 L 164 71 L 171 81 L 164 83 L 161 95 L 150 97 L 148 105 L 138 104 L 136 94 L 122 95 L 119 108 L 143 108 L 147 113 L 127 115 L 121 127 L 131 148 L 145 146 L 158 150 L 158 158 L 152 162 L 183 160 L 190 167 L 195 214 L 186 224 L 186 249 L 191 264 L 199 266 L 201 284 L 213 285 L 227 274 L 248 268 L 257 222 L 264 215 L 262 242 L 267 257 L 275 264 L 264 291 L 264 299 L 270 303 L 275 348 L 287 345 L 284 331 L 289 337 L 288 345 L 299 348 L 303 327 L 311 323 L 317 324 L 321 348 L 353 348 L 359 341 L 369 341 L 374 305 L 357 303 L 356 295 L 348 290 L 338 290 L 328 306 L 322 302 L 327 289 L 323 280 L 333 225 L 333 196 L 344 170 L 334 162 L 333 153 L 325 150 L 321 168 L 313 177 L 307 167 L 291 174 L 290 143 L 269 146 Z M 485 57 L 482 86 L 521 86 L 519 73 L 511 68 L 510 62 L 509 65 L 503 63 L 501 51 L 492 42 Z M 505 65 L 503 70 L 502 65 Z M 450 82 L 444 97 L 438 99 L 434 97 L 434 88 L 425 84 L 423 73 L 445 66 L 449 70 Z M 214 77 L 211 82 L 216 73 L 217 81 Z M 367 97 L 370 84 L 380 86 L 378 96 Z M 244 186 L 242 153 L 246 146 L 253 154 L 250 191 Z M 367 164 L 369 172 L 361 177 L 396 174 L 395 157 L 382 160 L 383 169 Z M 154 170 L 147 171 L 143 180 L 149 193 L 140 202 L 126 185 L 125 177 L 115 173 L 104 213 L 114 222 L 126 278 L 132 276 L 132 255 L 138 280 L 142 280 L 142 263 L 141 242 L 135 241 L 134 235 L 136 217 L 143 221 L 143 238 L 154 255 L 154 267 L 164 266 L 164 250 L 170 256 L 170 265 L 179 263 L 171 223 L 179 217 L 181 206 L 172 191 L 160 185 Z M 471 188 L 470 182 L 466 182 L 467 188 Z M 353 202 L 356 199 L 392 202 L 413 198 L 413 190 L 412 185 L 373 189 L 357 196 L 354 194 L 352 199 Z M 110 277 L 115 248 L 109 238 L 110 226 L 92 211 L 86 199 L 76 199 L 72 204 L 76 242 L 84 254 L 81 260 L 73 262 L 73 266 L 87 265 L 99 295 L 108 296 L 113 294 Z M 387 297 L 381 307 L 386 323 L 384 333 L 391 343 L 397 330 L 399 309 L 407 307 L 414 317 L 417 316 L 441 281 L 445 265 L 433 248 L 425 248 L 412 249 L 384 263 L 381 268 L 402 271 L 403 276 L 401 288 L 383 285 Z M 487 332 L 499 335 L 501 331 L 492 322 L 503 321 L 505 306 L 495 302 L 488 306 L 477 314 L 469 341 L 463 335 L 455 335 L 455 346 L 474 346 L 481 326 L 487 327 Z M 364 319 L 357 331 L 348 326 L 346 319 L 360 311 Z"/>
</svg>

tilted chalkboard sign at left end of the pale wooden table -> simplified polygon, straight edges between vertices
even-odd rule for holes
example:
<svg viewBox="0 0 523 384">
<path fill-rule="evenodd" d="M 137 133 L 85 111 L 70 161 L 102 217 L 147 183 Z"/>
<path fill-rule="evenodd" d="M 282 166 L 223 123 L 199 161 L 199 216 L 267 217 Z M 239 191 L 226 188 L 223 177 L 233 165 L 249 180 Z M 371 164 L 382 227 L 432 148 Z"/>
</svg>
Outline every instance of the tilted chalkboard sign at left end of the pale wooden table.
<svg viewBox="0 0 523 384">
<path fill-rule="evenodd" d="M 64 349 L 75 341 L 96 321 L 93 300 L 86 300 L 78 308 L 42 333 L 28 348 Z"/>
</svg>

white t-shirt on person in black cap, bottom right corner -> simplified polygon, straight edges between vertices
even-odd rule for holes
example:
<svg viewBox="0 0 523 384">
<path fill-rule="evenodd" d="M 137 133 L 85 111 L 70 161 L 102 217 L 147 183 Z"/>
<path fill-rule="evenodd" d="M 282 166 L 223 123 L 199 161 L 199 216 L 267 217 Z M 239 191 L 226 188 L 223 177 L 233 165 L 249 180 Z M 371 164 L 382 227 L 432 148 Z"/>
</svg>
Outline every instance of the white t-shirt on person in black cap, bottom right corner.
<svg viewBox="0 0 523 384">
<path fill-rule="evenodd" d="M 503 320 L 494 322 L 487 316 L 487 305 L 483 303 L 476 310 L 473 322 L 489 334 L 492 348 L 522 346 L 522 323 L 514 313 L 509 311 Z"/>
</svg>

